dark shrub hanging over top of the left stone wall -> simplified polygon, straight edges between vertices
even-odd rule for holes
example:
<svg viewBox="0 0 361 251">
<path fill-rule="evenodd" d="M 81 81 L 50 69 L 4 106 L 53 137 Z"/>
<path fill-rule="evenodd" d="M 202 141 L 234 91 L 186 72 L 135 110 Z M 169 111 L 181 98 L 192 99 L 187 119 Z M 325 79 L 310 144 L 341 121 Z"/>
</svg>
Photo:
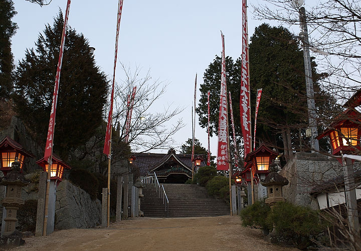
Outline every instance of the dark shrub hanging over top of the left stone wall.
<svg viewBox="0 0 361 251">
<path fill-rule="evenodd" d="M 92 200 L 97 198 L 99 181 L 93 173 L 85 169 L 72 169 L 69 180 L 87 192 Z"/>
</svg>

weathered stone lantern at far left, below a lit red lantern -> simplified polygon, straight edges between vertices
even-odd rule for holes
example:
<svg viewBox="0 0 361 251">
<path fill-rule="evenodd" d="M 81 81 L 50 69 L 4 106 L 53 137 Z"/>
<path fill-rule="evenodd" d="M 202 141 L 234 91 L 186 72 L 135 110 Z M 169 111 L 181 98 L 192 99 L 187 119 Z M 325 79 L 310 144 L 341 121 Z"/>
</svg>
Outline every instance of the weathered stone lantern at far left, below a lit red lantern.
<svg viewBox="0 0 361 251">
<path fill-rule="evenodd" d="M 29 182 L 25 180 L 24 175 L 19 171 L 10 171 L 0 184 L 6 186 L 5 198 L 1 200 L 6 209 L 6 217 L 4 219 L 5 231 L 0 238 L 0 245 L 11 247 L 24 244 L 22 234 L 15 229 L 15 225 L 18 221 L 16 216 L 19 206 L 25 204 L 25 201 L 21 198 L 21 190 Z"/>
</svg>

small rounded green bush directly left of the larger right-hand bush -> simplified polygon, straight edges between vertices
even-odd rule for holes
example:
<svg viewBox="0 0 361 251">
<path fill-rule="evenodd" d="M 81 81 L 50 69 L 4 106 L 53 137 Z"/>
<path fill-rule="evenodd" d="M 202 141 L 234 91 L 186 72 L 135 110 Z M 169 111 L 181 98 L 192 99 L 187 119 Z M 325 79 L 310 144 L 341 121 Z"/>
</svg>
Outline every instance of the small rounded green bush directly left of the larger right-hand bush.
<svg viewBox="0 0 361 251">
<path fill-rule="evenodd" d="M 241 210 L 241 218 L 243 226 L 262 227 L 264 230 L 269 230 L 271 227 L 266 222 L 267 215 L 271 208 L 265 203 L 265 200 L 258 200 L 251 206 Z"/>
</svg>

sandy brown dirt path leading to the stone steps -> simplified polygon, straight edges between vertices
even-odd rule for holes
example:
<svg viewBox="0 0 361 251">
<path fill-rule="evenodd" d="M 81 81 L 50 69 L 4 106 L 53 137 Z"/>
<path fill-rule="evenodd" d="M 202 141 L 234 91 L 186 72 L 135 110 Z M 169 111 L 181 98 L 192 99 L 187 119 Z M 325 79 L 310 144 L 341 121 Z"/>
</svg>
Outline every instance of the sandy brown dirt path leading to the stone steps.
<svg viewBox="0 0 361 251">
<path fill-rule="evenodd" d="M 238 216 L 134 218 L 109 228 L 60 230 L 11 250 L 298 250 L 263 240 Z"/>
</svg>

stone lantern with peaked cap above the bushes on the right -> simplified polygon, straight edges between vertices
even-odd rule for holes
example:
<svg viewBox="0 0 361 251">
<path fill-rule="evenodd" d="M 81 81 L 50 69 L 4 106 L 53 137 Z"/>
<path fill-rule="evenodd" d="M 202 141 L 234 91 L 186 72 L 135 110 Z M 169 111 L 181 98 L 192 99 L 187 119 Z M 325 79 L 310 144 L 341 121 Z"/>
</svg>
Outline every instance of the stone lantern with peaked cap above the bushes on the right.
<svg viewBox="0 0 361 251">
<path fill-rule="evenodd" d="M 278 201 L 285 201 L 282 194 L 282 187 L 288 185 L 288 180 L 277 173 L 277 164 L 271 165 L 270 174 L 261 181 L 261 184 L 267 187 L 268 197 L 266 203 L 271 207 Z"/>
</svg>

